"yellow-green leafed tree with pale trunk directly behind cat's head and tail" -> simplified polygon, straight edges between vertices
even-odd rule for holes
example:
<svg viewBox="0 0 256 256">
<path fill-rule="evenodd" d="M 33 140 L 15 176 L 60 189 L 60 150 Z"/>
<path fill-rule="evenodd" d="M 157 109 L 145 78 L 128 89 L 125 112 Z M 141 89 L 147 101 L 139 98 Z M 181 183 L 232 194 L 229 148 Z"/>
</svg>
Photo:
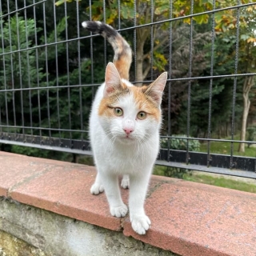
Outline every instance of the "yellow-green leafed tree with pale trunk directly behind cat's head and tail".
<svg viewBox="0 0 256 256">
<path fill-rule="evenodd" d="M 74 0 L 58 0 L 56 5 L 59 6 L 63 2 L 73 2 Z M 126 23 L 130 22 L 132 25 L 144 25 L 150 24 L 151 22 L 160 22 L 156 26 L 142 26 L 136 29 L 136 47 L 135 47 L 135 80 L 138 82 L 144 81 L 151 67 L 154 70 L 162 71 L 165 70 L 167 65 L 167 58 L 163 54 L 164 46 L 167 46 L 169 40 L 169 22 L 161 21 L 170 18 L 170 1 L 168 0 L 157 0 L 153 1 L 151 5 L 150 0 L 137 0 L 136 1 L 136 14 L 134 14 L 134 0 L 122 1 L 122 5 L 118 6 L 117 0 L 110 0 L 106 2 L 106 8 L 103 9 L 102 1 L 94 1 L 92 6 L 87 7 L 88 12 L 92 12 L 92 19 L 104 21 L 107 24 L 114 25 L 118 18 L 118 7 L 120 8 L 120 17 L 122 21 Z M 185 10 L 182 7 L 185 7 Z M 212 6 L 211 1 L 207 0 L 202 3 L 200 0 L 194 1 L 195 12 L 202 12 L 208 10 Z M 105 11 L 105 13 L 104 13 Z M 174 16 L 180 14 L 186 15 L 190 12 L 189 1 L 178 1 L 174 2 Z M 194 20 L 198 23 L 207 22 L 208 15 L 195 16 Z M 190 19 L 184 19 L 184 22 L 189 22 Z M 176 22 L 176 25 L 180 22 Z M 116 26 L 115 26 L 116 27 Z M 176 26 L 173 27 L 174 30 Z M 161 38 L 161 39 L 160 39 Z M 148 47 L 150 39 L 153 39 L 153 45 Z M 153 58 L 152 55 L 153 54 Z M 156 74 L 157 76 L 158 74 Z"/>
</svg>

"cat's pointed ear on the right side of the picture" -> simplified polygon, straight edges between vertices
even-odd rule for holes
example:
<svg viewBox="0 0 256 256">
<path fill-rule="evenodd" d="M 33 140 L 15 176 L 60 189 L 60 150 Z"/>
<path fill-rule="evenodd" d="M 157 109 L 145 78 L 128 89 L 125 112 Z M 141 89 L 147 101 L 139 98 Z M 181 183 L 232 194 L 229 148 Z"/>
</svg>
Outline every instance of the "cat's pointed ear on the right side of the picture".
<svg viewBox="0 0 256 256">
<path fill-rule="evenodd" d="M 162 92 L 165 89 L 167 80 L 167 72 L 164 72 L 158 76 L 158 78 L 148 86 L 145 94 L 153 98 L 154 102 L 160 106 L 162 102 Z"/>
</svg>

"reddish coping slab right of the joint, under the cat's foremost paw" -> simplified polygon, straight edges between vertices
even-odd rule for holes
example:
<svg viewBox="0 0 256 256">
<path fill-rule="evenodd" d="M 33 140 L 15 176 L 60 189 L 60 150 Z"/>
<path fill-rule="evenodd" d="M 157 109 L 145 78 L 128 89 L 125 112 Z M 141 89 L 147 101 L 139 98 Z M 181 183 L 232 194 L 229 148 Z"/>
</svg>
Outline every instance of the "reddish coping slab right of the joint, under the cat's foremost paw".
<svg viewBox="0 0 256 256">
<path fill-rule="evenodd" d="M 124 234 L 181 255 L 256 255 L 256 194 L 176 180 L 154 190 L 146 213 L 145 236 L 127 221 Z"/>
</svg>

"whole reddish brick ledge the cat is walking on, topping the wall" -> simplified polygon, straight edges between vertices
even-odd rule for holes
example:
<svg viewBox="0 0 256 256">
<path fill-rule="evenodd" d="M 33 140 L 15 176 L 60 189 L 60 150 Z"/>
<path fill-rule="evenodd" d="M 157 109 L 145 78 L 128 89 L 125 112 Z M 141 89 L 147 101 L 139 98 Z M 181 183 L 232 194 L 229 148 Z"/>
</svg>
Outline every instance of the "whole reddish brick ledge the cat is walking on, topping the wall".
<svg viewBox="0 0 256 256">
<path fill-rule="evenodd" d="M 105 194 L 93 196 L 95 168 L 0 151 L 0 196 L 132 236 L 181 255 L 256 255 L 256 194 L 152 176 L 146 214 L 135 234 L 113 218 Z M 122 190 L 127 202 L 128 191 Z"/>
</svg>

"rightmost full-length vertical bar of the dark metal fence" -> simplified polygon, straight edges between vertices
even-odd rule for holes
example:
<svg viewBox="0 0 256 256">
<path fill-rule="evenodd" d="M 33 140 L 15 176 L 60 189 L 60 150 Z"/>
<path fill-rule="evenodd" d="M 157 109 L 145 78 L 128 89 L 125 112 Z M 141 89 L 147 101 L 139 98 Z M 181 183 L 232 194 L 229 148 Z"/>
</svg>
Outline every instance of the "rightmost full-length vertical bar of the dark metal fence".
<svg viewBox="0 0 256 256">
<path fill-rule="evenodd" d="M 237 1 L 238 6 L 241 5 L 240 0 Z M 239 50 L 239 18 L 240 18 L 240 8 L 237 9 L 236 14 L 236 41 L 235 41 L 235 57 L 234 57 L 234 74 L 238 74 L 238 50 Z M 234 86 L 233 86 L 233 100 L 232 100 L 232 121 L 231 121 L 231 140 L 234 140 L 234 118 L 235 118 L 235 102 L 236 102 L 236 93 L 237 93 L 237 83 L 238 77 L 234 77 Z M 230 169 L 234 167 L 233 162 L 234 154 L 234 142 L 230 143 Z"/>
</svg>

